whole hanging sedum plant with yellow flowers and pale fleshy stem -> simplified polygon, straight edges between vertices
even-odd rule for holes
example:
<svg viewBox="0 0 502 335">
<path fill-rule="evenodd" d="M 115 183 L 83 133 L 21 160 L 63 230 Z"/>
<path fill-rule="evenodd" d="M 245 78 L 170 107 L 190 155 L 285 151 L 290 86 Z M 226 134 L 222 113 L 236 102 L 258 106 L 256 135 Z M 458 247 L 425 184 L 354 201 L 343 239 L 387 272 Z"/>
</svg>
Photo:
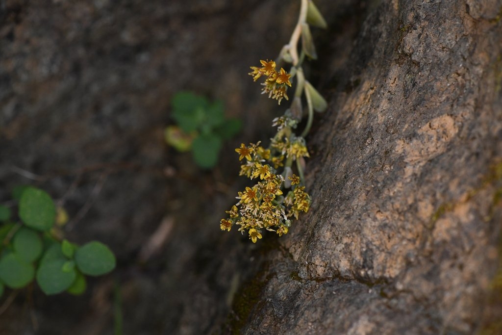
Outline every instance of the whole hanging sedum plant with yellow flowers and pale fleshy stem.
<svg viewBox="0 0 502 335">
<path fill-rule="evenodd" d="M 241 144 L 235 149 L 242 162 L 239 175 L 258 182 L 238 192 L 238 202 L 226 211 L 228 217 L 220 220 L 221 230 L 230 231 L 237 226 L 253 243 L 262 239 L 265 230 L 279 236 L 287 234 L 293 218 L 298 219 L 301 212 L 307 212 L 311 203 L 304 186 L 305 157 L 309 157 L 305 136 L 312 126 L 314 111 L 324 111 L 327 103 L 305 78 L 302 65 L 306 57 L 317 58 L 310 26 L 326 28 L 326 22 L 311 0 L 300 1 L 298 23 L 289 43 L 275 61 L 261 60 L 261 64 L 252 66 L 249 72 L 254 81 L 263 80 L 262 93 L 279 104 L 283 99 L 289 100 L 288 89 L 296 81 L 291 105 L 283 116 L 273 120 L 277 133 L 267 148 L 258 142 Z M 278 69 L 280 62 L 290 64 L 289 71 L 284 67 Z M 296 130 L 303 117 L 304 102 L 307 123 L 298 135 Z"/>
</svg>

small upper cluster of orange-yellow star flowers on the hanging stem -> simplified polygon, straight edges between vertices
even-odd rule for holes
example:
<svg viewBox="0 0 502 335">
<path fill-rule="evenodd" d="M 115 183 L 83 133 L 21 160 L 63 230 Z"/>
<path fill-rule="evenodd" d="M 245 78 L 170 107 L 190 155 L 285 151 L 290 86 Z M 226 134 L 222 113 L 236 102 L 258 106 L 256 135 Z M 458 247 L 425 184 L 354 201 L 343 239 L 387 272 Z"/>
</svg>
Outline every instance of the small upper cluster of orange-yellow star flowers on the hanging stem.
<svg viewBox="0 0 502 335">
<path fill-rule="evenodd" d="M 249 75 L 253 76 L 253 80 L 257 81 L 262 76 L 266 76 L 265 82 L 262 83 L 264 86 L 262 89 L 262 93 L 268 93 L 269 98 L 276 99 L 279 104 L 281 100 L 285 98 L 289 100 L 288 94 L 286 91 L 288 87 L 291 87 L 291 74 L 288 74 L 286 70 L 282 67 L 279 71 L 276 70 L 276 62 L 272 60 L 260 60 L 262 66 L 251 66 L 252 72 L 249 72 Z"/>
</svg>

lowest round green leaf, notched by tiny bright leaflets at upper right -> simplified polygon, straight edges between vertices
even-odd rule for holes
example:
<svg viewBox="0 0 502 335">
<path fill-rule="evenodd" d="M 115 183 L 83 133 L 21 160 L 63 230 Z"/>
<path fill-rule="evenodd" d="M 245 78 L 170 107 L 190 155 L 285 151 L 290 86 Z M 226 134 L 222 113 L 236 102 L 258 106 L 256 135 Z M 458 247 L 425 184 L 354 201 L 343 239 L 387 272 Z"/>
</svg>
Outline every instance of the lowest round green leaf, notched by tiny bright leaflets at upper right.
<svg viewBox="0 0 502 335">
<path fill-rule="evenodd" d="M 77 277 L 75 269 L 63 271 L 65 263 L 65 259 L 52 259 L 40 263 L 37 270 L 37 283 L 45 294 L 61 293 L 75 281 Z"/>
</svg>

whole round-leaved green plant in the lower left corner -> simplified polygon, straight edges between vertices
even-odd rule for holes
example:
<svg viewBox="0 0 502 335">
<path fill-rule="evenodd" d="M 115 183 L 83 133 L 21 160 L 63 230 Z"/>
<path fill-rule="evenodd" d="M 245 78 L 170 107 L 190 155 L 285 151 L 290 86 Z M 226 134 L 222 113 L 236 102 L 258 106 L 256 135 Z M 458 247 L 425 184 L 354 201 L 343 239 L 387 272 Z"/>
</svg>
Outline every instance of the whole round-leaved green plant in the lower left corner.
<svg viewBox="0 0 502 335">
<path fill-rule="evenodd" d="M 18 217 L 0 205 L 0 297 L 5 286 L 19 289 L 36 280 L 45 294 L 81 294 L 84 275 L 100 276 L 115 268 L 115 256 L 104 244 L 78 246 L 61 240 L 55 229 L 57 210 L 51 196 L 35 187 L 16 187 Z"/>
</svg>

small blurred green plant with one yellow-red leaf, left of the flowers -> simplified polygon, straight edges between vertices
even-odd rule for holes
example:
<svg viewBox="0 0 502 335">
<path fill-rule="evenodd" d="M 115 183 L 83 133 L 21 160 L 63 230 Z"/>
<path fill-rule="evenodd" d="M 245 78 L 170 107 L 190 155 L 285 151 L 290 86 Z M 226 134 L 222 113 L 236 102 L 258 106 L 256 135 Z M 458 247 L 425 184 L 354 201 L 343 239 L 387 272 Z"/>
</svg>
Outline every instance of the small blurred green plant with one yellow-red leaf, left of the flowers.
<svg viewBox="0 0 502 335">
<path fill-rule="evenodd" d="M 181 91 L 172 99 L 172 117 L 177 126 L 165 130 L 166 142 L 180 152 L 192 151 L 195 163 L 210 169 L 218 162 L 224 140 L 241 129 L 237 119 L 225 118 L 223 102 Z"/>
</svg>

